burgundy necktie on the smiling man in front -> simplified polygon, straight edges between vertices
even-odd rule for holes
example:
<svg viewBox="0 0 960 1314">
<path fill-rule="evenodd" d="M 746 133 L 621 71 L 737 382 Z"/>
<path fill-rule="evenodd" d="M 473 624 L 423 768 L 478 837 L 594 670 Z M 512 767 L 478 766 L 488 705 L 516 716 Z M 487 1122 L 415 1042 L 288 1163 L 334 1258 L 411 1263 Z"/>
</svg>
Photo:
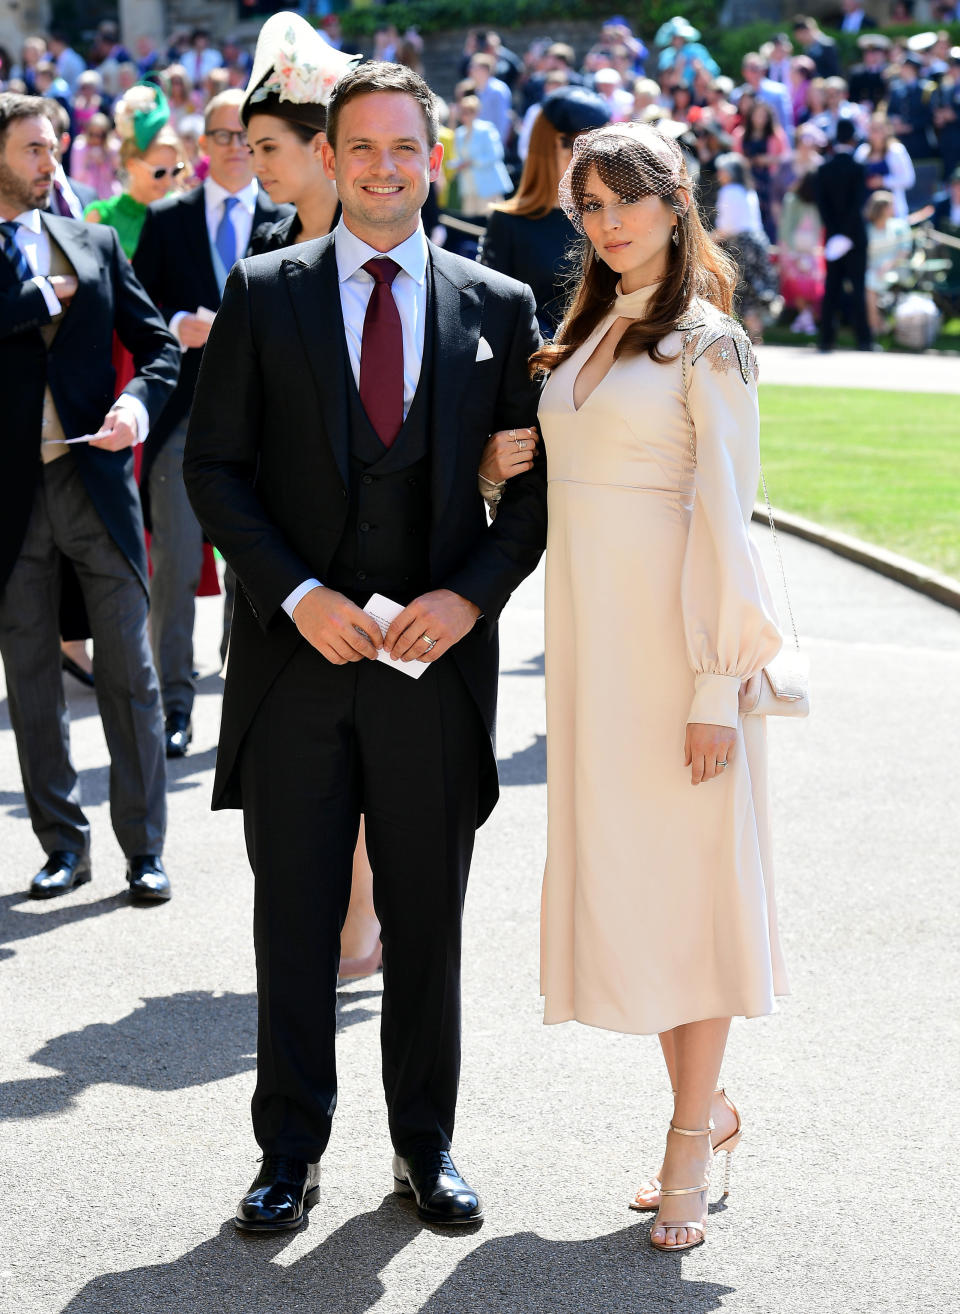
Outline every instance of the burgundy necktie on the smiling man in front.
<svg viewBox="0 0 960 1314">
<path fill-rule="evenodd" d="M 395 260 L 368 260 L 374 280 L 360 343 L 360 401 L 383 447 L 403 424 L 403 328 L 390 284 L 401 272 Z"/>
</svg>

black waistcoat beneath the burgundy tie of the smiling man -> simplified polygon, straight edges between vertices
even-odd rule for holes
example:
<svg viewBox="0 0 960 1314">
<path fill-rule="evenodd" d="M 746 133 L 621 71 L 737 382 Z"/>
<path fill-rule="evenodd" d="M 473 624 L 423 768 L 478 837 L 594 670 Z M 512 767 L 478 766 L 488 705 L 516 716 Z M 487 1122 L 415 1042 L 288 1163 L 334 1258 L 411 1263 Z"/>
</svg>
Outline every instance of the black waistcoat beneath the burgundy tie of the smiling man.
<svg viewBox="0 0 960 1314">
<path fill-rule="evenodd" d="M 406 606 L 429 587 L 431 293 L 428 285 L 420 378 L 403 427 L 389 448 L 366 418 L 344 351 L 351 431 L 349 509 L 327 581 L 359 606 L 373 593 Z"/>
</svg>

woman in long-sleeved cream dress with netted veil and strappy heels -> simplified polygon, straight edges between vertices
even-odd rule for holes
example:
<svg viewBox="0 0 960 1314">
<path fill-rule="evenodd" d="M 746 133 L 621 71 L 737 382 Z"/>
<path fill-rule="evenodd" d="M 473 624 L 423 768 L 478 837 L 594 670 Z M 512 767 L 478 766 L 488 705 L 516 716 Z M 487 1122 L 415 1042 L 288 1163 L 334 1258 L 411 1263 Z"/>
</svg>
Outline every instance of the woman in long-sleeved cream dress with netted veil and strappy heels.
<svg viewBox="0 0 960 1314">
<path fill-rule="evenodd" d="M 583 134 L 561 204 L 588 244 L 533 357 L 550 374 L 541 988 L 546 1022 L 659 1033 L 674 1118 L 634 1204 L 659 1206 L 657 1248 L 684 1250 L 712 1155 L 729 1166 L 739 1139 L 716 1091 L 730 1018 L 785 992 L 764 723 L 738 715 L 780 648 L 749 539 L 756 368 L 672 142 Z"/>
</svg>

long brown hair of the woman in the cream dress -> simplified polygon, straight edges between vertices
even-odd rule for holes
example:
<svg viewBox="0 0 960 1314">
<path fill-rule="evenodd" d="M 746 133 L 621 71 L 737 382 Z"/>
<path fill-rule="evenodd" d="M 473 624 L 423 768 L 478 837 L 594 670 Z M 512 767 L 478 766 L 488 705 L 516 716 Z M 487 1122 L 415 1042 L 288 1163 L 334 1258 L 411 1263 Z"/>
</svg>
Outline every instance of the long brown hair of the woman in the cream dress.
<svg viewBox="0 0 960 1314">
<path fill-rule="evenodd" d="M 620 156 L 617 162 L 620 171 L 622 171 L 622 163 L 624 156 Z M 596 167 L 600 179 L 608 187 L 616 180 L 612 171 L 609 181 L 604 177 L 607 170 L 603 155 L 590 159 L 584 164 L 584 175 L 591 167 Z M 620 181 L 622 181 L 622 175 Z M 640 177 L 636 180 L 636 185 L 637 196 L 644 194 L 645 188 Z M 676 214 L 679 240 L 676 244 L 670 242 L 666 276 L 650 298 L 646 317 L 634 319 L 617 343 L 613 352 L 615 360 L 622 355 L 640 356 L 644 352 L 658 364 L 674 360 L 674 356 L 667 356 L 661 351 L 661 343 L 675 330 L 678 319 L 686 313 L 695 297 L 709 301 L 724 314 L 733 313 L 737 267 L 704 229 L 693 187 L 686 170 L 678 189 L 671 196 L 663 197 L 663 205 Z M 556 339 L 544 343 L 540 351 L 535 351 L 531 356 L 531 374 L 556 369 L 567 356 L 573 356 L 583 346 L 613 305 L 619 283 L 620 275 L 595 255 L 590 239 L 584 237 L 580 272 L 573 286 L 563 323 L 559 326 Z"/>
</svg>

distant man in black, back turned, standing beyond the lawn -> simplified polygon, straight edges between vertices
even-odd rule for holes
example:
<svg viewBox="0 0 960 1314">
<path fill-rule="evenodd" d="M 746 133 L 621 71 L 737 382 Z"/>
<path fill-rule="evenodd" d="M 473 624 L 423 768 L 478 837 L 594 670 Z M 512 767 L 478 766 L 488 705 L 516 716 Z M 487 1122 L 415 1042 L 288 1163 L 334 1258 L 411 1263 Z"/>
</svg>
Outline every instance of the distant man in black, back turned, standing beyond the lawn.
<svg viewBox="0 0 960 1314">
<path fill-rule="evenodd" d="M 856 125 L 842 118 L 837 125 L 834 154 L 819 166 L 814 176 L 817 206 L 826 230 L 826 284 L 819 315 L 819 350 L 833 351 L 835 319 L 843 301 L 844 284 L 850 286 L 850 318 L 858 351 L 869 351 L 872 338 L 867 321 L 867 173 L 854 159 Z M 850 247 L 831 259 L 830 239 L 846 238 Z M 846 244 L 846 243 L 844 243 Z"/>
</svg>

